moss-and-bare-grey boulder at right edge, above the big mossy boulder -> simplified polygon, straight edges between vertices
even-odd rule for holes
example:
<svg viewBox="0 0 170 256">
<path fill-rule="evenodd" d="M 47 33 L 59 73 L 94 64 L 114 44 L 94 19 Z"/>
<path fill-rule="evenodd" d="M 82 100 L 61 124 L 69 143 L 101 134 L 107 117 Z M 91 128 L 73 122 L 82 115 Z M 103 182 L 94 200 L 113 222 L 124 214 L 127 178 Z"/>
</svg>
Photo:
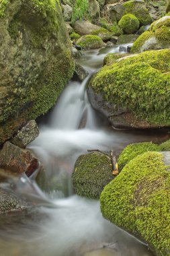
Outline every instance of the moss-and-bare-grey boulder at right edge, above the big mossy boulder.
<svg viewBox="0 0 170 256">
<path fill-rule="evenodd" d="M 170 16 L 153 22 L 151 30 L 141 34 L 134 42 L 131 53 L 142 53 L 148 50 L 168 49 L 170 47 Z"/>
</svg>

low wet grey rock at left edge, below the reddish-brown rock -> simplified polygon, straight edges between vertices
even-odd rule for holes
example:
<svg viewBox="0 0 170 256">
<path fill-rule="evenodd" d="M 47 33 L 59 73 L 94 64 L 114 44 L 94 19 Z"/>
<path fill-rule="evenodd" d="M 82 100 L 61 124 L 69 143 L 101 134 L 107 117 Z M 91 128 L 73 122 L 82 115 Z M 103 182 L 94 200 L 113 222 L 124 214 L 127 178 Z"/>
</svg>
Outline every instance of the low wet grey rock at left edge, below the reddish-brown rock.
<svg viewBox="0 0 170 256">
<path fill-rule="evenodd" d="M 7 214 L 9 212 L 21 212 L 28 208 L 28 204 L 19 199 L 16 195 L 0 188 L 0 214 Z"/>
</svg>

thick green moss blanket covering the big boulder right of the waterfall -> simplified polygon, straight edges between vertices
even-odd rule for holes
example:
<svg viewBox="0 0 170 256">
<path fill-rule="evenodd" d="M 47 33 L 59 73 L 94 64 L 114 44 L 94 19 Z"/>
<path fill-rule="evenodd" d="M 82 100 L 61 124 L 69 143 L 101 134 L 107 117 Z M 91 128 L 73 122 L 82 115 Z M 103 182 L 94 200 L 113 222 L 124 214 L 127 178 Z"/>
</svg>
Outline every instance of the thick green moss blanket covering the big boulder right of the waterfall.
<svg viewBox="0 0 170 256">
<path fill-rule="evenodd" d="M 146 51 L 104 66 L 91 86 L 103 100 L 128 108 L 134 117 L 169 125 L 170 51 Z M 148 100 L 149 99 L 149 100 Z"/>
</svg>

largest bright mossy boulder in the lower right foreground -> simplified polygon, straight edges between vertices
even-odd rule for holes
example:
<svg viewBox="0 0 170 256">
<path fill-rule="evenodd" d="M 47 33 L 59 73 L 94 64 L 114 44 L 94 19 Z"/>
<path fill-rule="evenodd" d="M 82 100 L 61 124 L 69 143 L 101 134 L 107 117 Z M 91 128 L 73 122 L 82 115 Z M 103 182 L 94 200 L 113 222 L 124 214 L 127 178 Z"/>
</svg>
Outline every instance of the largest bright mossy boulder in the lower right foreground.
<svg viewBox="0 0 170 256">
<path fill-rule="evenodd" d="M 170 254 L 170 172 L 163 154 L 132 159 L 101 193 L 103 217 L 145 241 L 155 255 Z"/>
</svg>

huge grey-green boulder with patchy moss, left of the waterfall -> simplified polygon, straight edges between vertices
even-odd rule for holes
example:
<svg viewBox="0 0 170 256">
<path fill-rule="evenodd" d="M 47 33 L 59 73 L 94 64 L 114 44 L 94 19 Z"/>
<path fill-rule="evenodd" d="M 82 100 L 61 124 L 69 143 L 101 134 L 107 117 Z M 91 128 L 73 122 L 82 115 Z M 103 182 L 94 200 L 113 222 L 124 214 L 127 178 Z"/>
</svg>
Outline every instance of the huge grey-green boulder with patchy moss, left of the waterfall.
<svg viewBox="0 0 170 256">
<path fill-rule="evenodd" d="M 54 105 L 74 65 L 58 1 L 4 1 L 0 35 L 1 144 Z"/>
</svg>

